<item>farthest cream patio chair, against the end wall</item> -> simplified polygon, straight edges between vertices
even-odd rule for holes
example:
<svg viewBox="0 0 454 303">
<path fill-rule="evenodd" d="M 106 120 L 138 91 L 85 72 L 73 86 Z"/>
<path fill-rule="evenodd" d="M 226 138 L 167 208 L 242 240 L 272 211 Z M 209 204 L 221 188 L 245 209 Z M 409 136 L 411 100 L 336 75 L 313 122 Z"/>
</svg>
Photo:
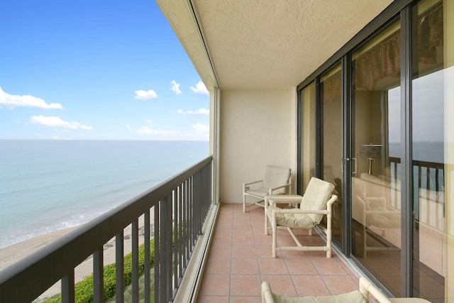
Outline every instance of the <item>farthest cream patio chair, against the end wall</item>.
<svg viewBox="0 0 454 303">
<path fill-rule="evenodd" d="M 252 186 L 251 186 L 252 185 Z M 265 197 L 277 194 L 290 194 L 292 191 L 292 170 L 287 167 L 267 165 L 262 180 L 243 183 L 243 212 L 251 205 L 264 206 Z M 246 197 L 260 199 L 248 203 Z"/>
</svg>

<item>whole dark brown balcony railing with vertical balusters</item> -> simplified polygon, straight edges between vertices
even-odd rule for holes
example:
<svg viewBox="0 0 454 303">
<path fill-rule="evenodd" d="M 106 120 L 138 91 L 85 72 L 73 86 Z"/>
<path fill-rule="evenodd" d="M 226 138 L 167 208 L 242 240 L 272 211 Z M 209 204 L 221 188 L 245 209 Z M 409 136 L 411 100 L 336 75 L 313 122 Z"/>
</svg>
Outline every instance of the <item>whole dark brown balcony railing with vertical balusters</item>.
<svg viewBox="0 0 454 303">
<path fill-rule="evenodd" d="M 112 209 L 0 272 L 0 302 L 31 302 L 61 280 L 74 302 L 74 268 L 93 255 L 94 302 L 104 302 L 103 246 L 116 238 L 116 302 L 124 301 L 123 229 L 132 225 L 132 298 L 139 300 L 139 217 L 144 215 L 145 302 L 172 302 L 211 207 L 212 157 Z M 153 221 L 150 221 L 150 217 Z M 151 228 L 155 268 L 150 270 Z M 150 273 L 152 272 L 152 273 Z"/>
</svg>

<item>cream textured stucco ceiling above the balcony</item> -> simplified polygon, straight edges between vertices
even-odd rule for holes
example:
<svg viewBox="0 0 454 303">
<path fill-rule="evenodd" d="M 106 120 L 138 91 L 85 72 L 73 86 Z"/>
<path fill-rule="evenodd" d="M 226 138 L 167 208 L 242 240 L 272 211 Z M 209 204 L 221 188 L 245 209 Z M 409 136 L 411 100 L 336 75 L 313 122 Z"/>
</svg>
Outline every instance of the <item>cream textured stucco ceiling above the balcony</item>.
<svg viewBox="0 0 454 303">
<path fill-rule="evenodd" d="M 207 87 L 216 86 L 212 65 L 222 90 L 296 86 L 391 3 L 157 0 Z"/>
</svg>

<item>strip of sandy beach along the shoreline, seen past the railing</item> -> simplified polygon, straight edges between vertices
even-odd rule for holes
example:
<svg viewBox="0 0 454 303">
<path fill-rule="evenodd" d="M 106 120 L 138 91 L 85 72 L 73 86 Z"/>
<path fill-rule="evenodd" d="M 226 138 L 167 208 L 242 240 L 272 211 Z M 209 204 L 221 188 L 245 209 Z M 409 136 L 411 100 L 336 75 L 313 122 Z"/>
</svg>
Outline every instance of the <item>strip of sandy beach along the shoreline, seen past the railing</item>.
<svg viewBox="0 0 454 303">
<path fill-rule="evenodd" d="M 153 226 L 153 224 L 152 224 Z M 0 249 L 0 271 L 9 267 L 13 263 L 16 263 L 18 260 L 25 258 L 27 255 L 43 248 L 52 241 L 55 241 L 57 238 L 64 236 L 65 234 L 73 231 L 76 227 L 65 228 L 58 231 L 53 231 L 51 233 L 46 233 L 45 235 L 37 236 L 29 240 L 16 243 L 12 246 Z M 132 250 L 132 241 L 131 241 L 131 225 L 127 226 L 124 230 L 124 254 L 131 253 Z M 143 217 L 139 219 L 139 235 L 143 234 Z M 139 244 L 142 244 L 144 241 L 143 237 L 139 237 Z M 93 260 L 92 256 L 89 256 L 84 262 L 79 264 L 74 270 L 74 280 L 75 282 L 81 281 L 87 275 L 90 275 L 93 272 Z M 104 244 L 104 265 L 115 262 L 115 237 L 111 238 L 106 244 Z M 40 302 L 46 297 L 51 297 L 54 294 L 60 293 L 61 285 L 60 281 L 52 285 L 46 292 L 40 295 L 35 302 Z"/>
</svg>

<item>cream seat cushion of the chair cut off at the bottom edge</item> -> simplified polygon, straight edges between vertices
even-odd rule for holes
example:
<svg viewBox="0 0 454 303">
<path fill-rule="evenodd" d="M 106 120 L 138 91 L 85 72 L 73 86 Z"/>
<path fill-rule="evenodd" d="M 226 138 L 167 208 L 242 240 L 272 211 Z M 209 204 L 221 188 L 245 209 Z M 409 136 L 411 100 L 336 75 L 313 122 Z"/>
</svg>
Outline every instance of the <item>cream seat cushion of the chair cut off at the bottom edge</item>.
<svg viewBox="0 0 454 303">
<path fill-rule="evenodd" d="M 323 296 L 323 297 L 285 297 L 279 294 L 272 294 L 272 298 L 275 303 L 366 303 L 365 297 L 359 290 L 348 292 L 346 294 L 338 294 L 335 296 Z"/>
</svg>

